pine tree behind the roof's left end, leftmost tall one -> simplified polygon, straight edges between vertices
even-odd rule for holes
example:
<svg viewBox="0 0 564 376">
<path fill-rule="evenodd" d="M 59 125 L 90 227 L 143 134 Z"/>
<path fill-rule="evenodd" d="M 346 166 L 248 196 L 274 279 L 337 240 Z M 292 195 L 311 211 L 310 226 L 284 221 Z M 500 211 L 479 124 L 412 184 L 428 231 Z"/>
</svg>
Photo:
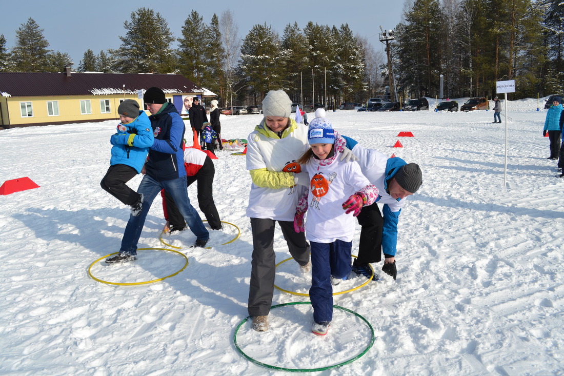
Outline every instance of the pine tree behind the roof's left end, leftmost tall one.
<svg viewBox="0 0 564 376">
<path fill-rule="evenodd" d="M 43 29 L 31 17 L 16 30 L 16 46 L 12 49 L 14 71 L 45 72 L 49 66 L 49 42 L 43 36 Z"/>
</svg>

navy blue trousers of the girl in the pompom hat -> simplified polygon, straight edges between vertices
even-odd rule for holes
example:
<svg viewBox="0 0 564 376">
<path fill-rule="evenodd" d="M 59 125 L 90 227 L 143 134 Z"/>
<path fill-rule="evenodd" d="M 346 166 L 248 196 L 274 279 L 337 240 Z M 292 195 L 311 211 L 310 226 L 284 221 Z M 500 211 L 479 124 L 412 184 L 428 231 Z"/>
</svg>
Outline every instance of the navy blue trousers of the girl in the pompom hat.
<svg viewBox="0 0 564 376">
<path fill-rule="evenodd" d="M 336 240 L 333 243 L 310 242 L 311 288 L 310 300 L 314 321 L 333 320 L 333 287 L 331 276 L 344 278 L 350 273 L 352 242 Z"/>
</svg>

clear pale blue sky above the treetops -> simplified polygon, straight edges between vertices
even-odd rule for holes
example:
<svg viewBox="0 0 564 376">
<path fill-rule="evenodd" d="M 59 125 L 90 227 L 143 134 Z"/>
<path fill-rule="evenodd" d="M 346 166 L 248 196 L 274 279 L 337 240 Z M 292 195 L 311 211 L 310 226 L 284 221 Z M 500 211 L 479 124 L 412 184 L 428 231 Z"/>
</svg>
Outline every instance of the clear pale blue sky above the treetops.
<svg viewBox="0 0 564 376">
<path fill-rule="evenodd" d="M 153 8 L 159 12 L 168 21 L 175 38 L 180 36 L 184 21 L 192 10 L 196 10 L 206 24 L 209 24 L 214 13 L 220 16 L 223 11 L 231 10 L 241 38 L 246 36 L 253 25 L 265 22 L 280 35 L 288 23 L 297 22 L 300 28 L 305 27 L 309 21 L 329 27 L 340 27 L 341 24 L 348 23 L 354 34 L 371 39 L 376 49 L 383 46 L 378 41 L 380 26 L 383 29 L 393 29 L 400 21 L 403 9 L 402 2 L 383 0 L 365 3 L 334 0 L 215 0 L 197 4 L 198 2 L 145 0 L 6 1 L 2 5 L 0 34 L 6 37 L 6 46 L 13 47 L 16 30 L 31 17 L 43 29 L 43 35 L 50 43 L 49 48 L 68 53 L 76 68 L 87 49 L 98 54 L 101 50 L 119 47 L 119 36 L 125 35 L 124 21 L 130 20 L 131 12 L 140 7 Z M 175 44 L 174 47 L 176 46 Z"/>
</svg>

